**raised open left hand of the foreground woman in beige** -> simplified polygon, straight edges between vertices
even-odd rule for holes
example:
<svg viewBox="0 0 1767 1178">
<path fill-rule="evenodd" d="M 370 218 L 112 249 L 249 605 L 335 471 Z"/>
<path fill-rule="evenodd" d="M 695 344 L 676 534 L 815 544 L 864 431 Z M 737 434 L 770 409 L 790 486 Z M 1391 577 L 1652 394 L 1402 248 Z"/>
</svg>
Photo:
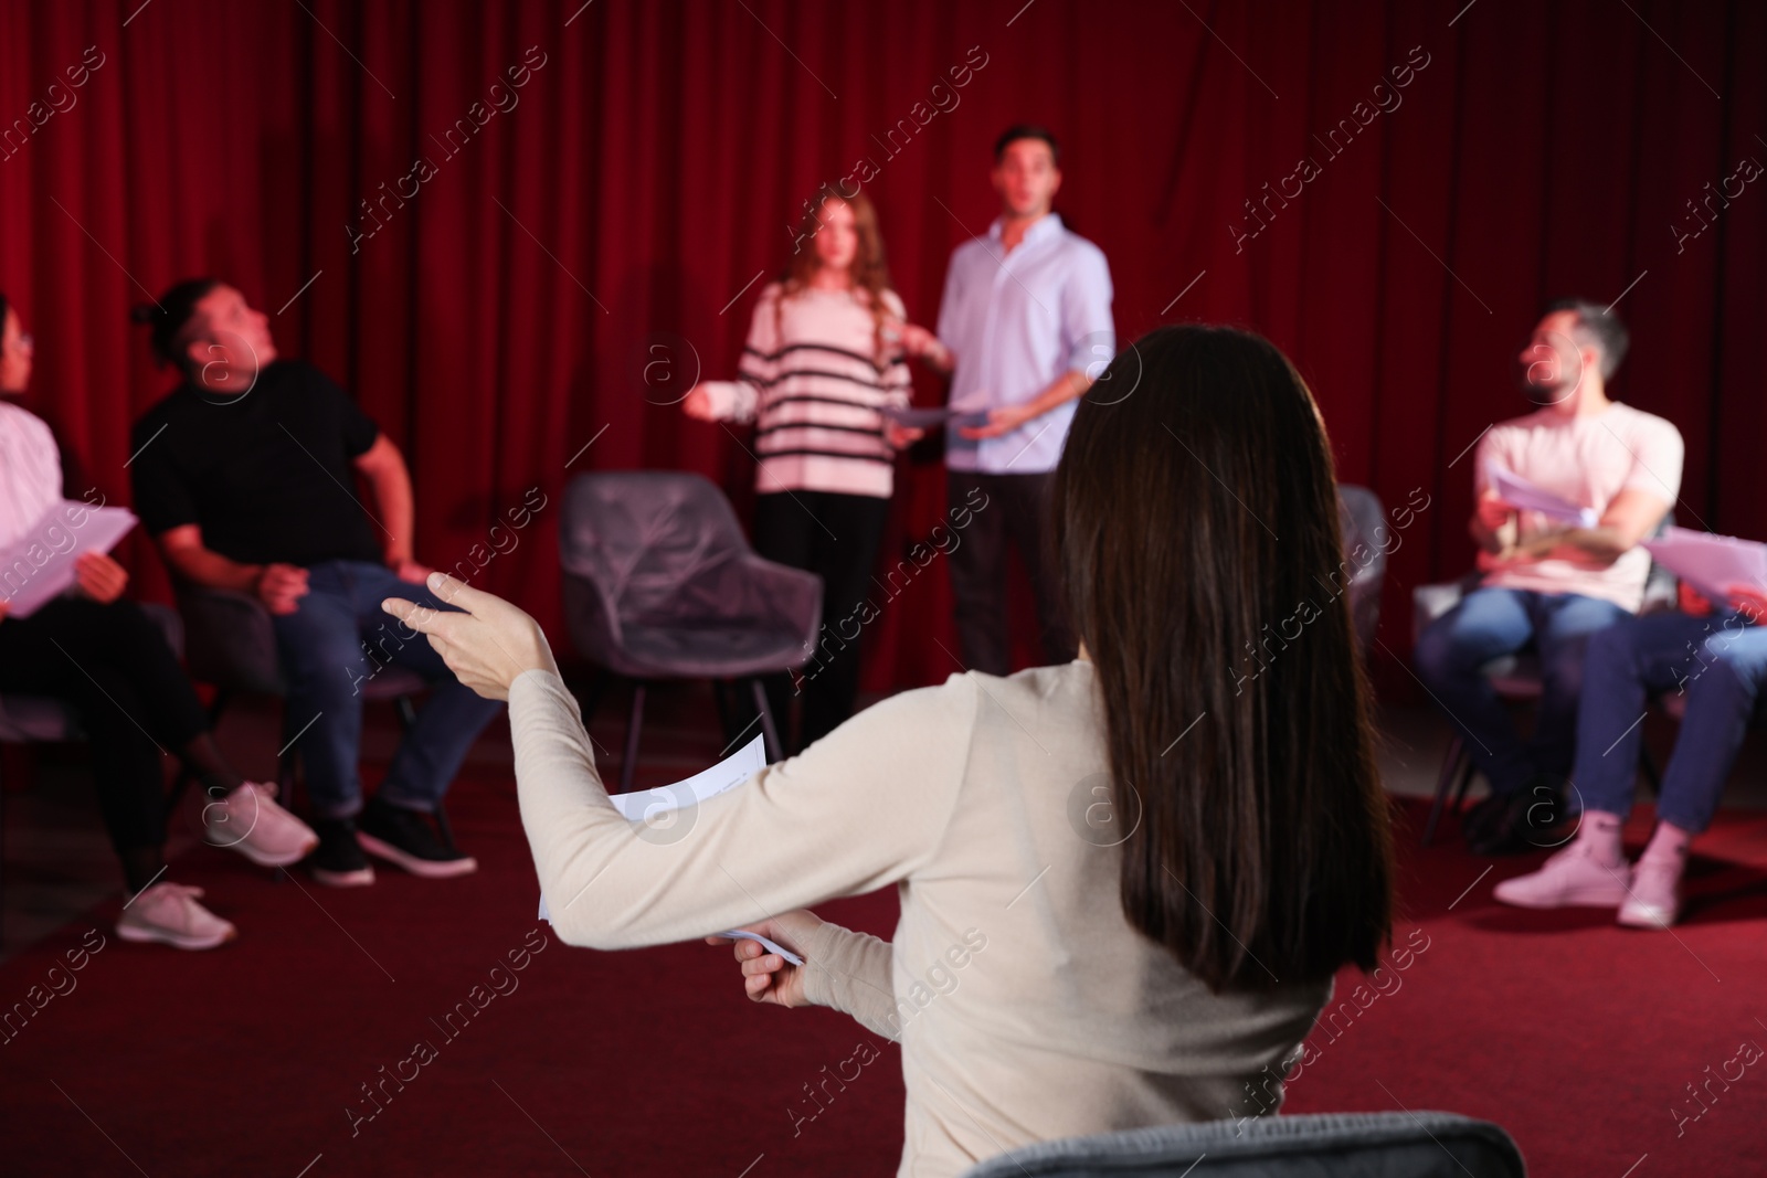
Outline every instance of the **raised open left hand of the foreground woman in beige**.
<svg viewBox="0 0 1767 1178">
<path fill-rule="evenodd" d="M 486 699 L 509 699 L 509 685 L 523 671 L 558 673 L 539 622 L 516 606 L 445 572 L 431 572 L 428 586 L 463 613 L 403 597 L 389 597 L 380 608 L 419 634 L 428 634 L 429 645 L 466 687 Z"/>
</svg>

